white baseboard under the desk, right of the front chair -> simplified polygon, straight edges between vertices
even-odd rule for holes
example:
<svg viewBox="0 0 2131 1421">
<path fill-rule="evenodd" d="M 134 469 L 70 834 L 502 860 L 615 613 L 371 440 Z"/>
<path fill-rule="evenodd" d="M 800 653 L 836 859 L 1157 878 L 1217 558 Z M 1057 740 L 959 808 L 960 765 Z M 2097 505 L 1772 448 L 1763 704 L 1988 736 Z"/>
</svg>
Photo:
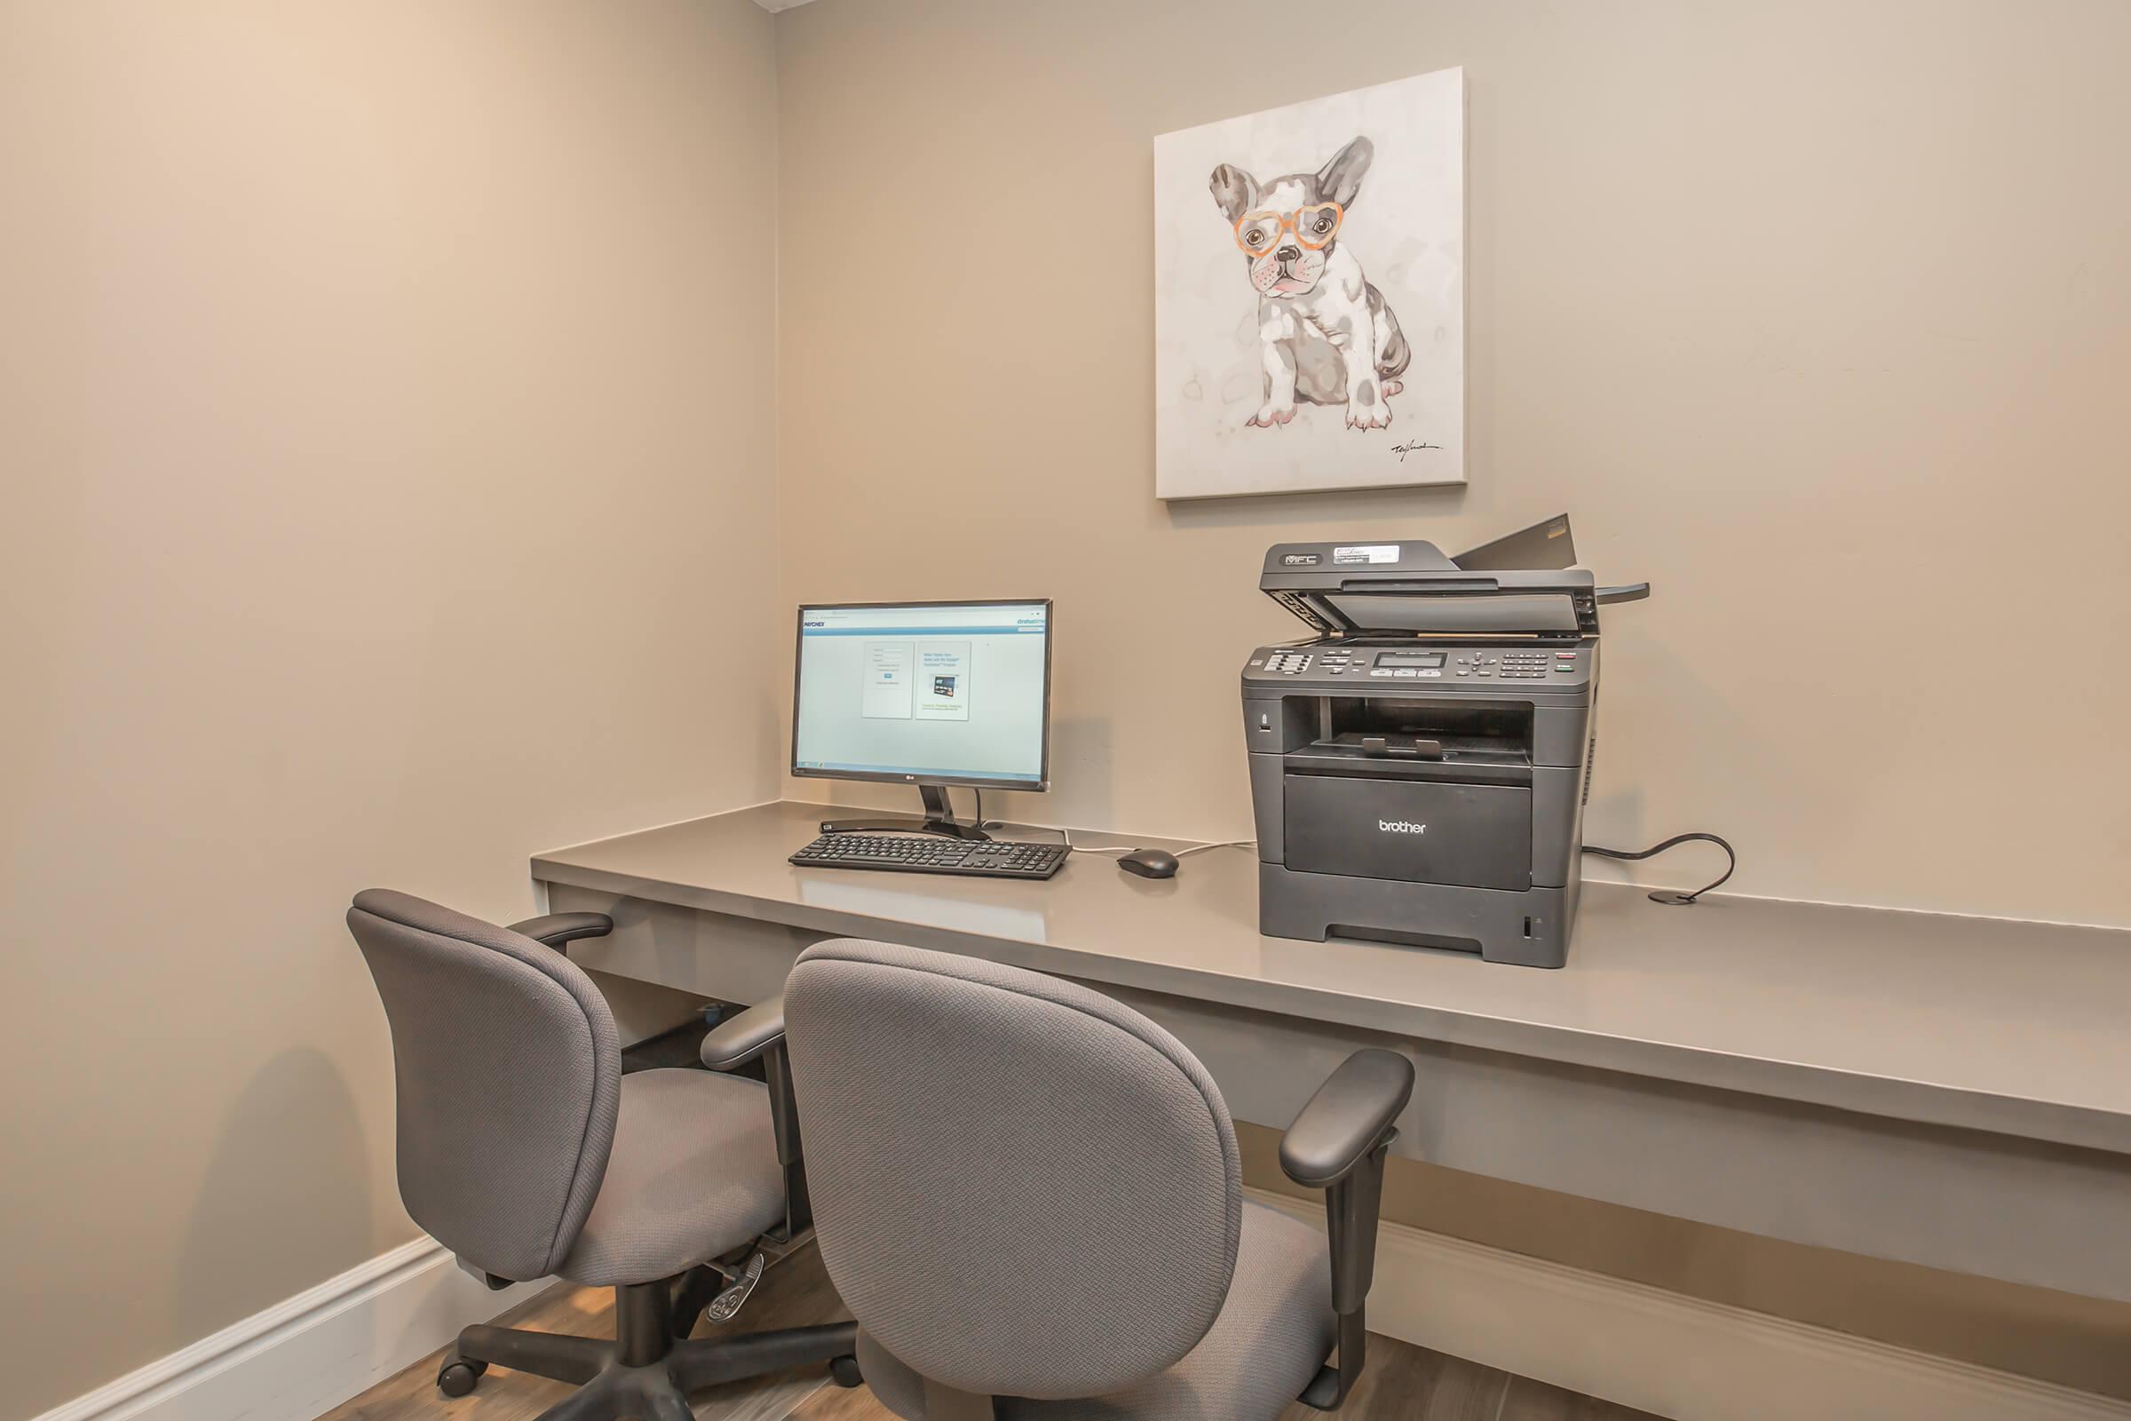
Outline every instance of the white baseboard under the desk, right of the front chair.
<svg viewBox="0 0 2131 1421">
<path fill-rule="evenodd" d="M 1249 1195 L 1323 1227 L 1323 1208 Z M 1385 1223 L 1370 1332 L 1677 1421 L 2127 1421 L 2131 1404 Z"/>
</svg>

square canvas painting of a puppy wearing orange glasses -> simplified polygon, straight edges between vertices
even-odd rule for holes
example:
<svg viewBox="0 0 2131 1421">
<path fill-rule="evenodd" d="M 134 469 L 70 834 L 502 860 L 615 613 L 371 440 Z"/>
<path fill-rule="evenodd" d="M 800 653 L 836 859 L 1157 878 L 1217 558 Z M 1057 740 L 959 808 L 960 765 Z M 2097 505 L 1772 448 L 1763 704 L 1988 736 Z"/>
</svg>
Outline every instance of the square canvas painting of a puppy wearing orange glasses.
<svg viewBox="0 0 2131 1421">
<path fill-rule="evenodd" d="M 1155 141 L 1155 445 L 1164 499 L 1464 481 L 1462 70 Z"/>
</svg>

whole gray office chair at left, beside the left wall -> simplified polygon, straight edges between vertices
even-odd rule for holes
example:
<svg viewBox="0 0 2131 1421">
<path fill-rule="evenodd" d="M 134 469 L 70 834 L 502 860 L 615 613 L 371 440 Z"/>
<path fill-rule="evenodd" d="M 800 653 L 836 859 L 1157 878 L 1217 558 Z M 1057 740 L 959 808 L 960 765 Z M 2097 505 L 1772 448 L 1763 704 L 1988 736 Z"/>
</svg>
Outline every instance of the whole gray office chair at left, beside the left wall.
<svg viewBox="0 0 2131 1421">
<path fill-rule="evenodd" d="M 855 1385 L 850 1323 L 680 1340 L 725 1287 L 716 1261 L 806 1223 L 806 1191 L 786 1182 L 801 1178 L 797 1129 L 759 1080 L 622 1074 L 605 999 L 560 952 L 612 927 L 552 914 L 505 929 L 386 891 L 347 910 L 392 1023 L 407 1212 L 490 1287 L 614 1289 L 614 1342 L 467 1327 L 439 1389 L 465 1395 L 497 1363 L 580 1383 L 543 1421 L 688 1421 L 690 1391 L 761 1372 L 837 1363 Z M 752 1038 L 729 1055 L 780 1050 Z"/>
</svg>

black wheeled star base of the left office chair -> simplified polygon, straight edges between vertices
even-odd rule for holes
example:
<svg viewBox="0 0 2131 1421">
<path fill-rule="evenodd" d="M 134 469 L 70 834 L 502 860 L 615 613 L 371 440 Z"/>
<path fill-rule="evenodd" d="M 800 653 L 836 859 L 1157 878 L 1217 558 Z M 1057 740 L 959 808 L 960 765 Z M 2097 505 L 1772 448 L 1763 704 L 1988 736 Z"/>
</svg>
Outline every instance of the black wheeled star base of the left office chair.
<svg viewBox="0 0 2131 1421">
<path fill-rule="evenodd" d="M 799 1366 L 831 1366 L 842 1387 L 857 1385 L 857 1323 L 750 1332 L 737 1338 L 676 1340 L 671 1283 L 633 1283 L 614 1289 L 616 1338 L 575 1338 L 477 1323 L 458 1334 L 437 1385 L 465 1395 L 490 1363 L 554 1381 L 578 1391 L 541 1412 L 539 1421 L 690 1421 L 688 1393 L 718 1383 L 763 1376 Z"/>
</svg>

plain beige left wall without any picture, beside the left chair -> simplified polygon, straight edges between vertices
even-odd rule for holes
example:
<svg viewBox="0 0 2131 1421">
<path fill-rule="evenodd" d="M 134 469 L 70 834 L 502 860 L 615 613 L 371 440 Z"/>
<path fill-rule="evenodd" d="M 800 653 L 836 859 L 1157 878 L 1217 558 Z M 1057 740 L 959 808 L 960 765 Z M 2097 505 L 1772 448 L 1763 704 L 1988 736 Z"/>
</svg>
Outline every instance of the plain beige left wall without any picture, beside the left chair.
<svg viewBox="0 0 2131 1421">
<path fill-rule="evenodd" d="M 774 795 L 774 107 L 748 0 L 0 0 L 0 1415 L 413 1236 L 352 891 Z"/>
</svg>

